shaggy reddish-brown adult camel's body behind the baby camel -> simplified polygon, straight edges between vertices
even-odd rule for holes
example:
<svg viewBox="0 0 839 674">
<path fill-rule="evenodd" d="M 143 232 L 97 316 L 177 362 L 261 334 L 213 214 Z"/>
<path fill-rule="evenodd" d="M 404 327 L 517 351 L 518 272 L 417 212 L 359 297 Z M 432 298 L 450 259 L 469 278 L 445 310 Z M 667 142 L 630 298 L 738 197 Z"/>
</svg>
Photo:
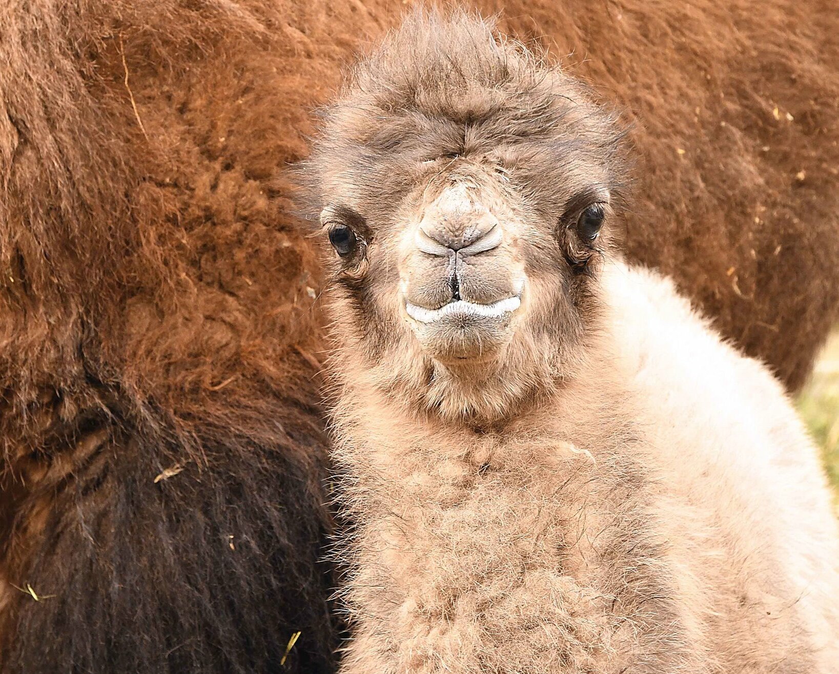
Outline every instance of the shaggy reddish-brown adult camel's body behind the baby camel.
<svg viewBox="0 0 839 674">
<path fill-rule="evenodd" d="M 479 4 L 630 109 L 629 253 L 799 384 L 839 292 L 830 0 Z M 404 7 L 0 2 L 0 671 L 264 671 L 297 631 L 285 669 L 331 669 L 320 274 L 276 173 Z"/>
</svg>

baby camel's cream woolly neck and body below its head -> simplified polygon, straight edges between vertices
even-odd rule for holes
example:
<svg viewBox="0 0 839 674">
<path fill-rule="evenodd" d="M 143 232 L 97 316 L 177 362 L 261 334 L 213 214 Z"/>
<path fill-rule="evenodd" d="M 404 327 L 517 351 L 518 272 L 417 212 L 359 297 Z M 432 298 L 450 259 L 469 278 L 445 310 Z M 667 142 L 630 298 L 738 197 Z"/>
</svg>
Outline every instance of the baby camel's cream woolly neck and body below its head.
<svg viewBox="0 0 839 674">
<path fill-rule="evenodd" d="M 598 284 L 583 363 L 508 423 L 420 415 L 339 347 L 344 674 L 839 672 L 836 521 L 780 385 L 670 281 Z"/>
</svg>

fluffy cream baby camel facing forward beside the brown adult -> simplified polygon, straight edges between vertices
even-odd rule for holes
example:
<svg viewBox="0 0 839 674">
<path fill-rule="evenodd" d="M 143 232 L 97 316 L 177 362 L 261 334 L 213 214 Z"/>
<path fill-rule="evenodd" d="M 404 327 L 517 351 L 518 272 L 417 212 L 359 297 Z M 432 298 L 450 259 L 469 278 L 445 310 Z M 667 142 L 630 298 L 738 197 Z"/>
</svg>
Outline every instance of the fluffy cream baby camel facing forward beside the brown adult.
<svg viewBox="0 0 839 674">
<path fill-rule="evenodd" d="M 347 674 L 839 671 L 816 452 L 619 258 L 620 138 L 463 13 L 414 13 L 326 112 Z"/>
</svg>

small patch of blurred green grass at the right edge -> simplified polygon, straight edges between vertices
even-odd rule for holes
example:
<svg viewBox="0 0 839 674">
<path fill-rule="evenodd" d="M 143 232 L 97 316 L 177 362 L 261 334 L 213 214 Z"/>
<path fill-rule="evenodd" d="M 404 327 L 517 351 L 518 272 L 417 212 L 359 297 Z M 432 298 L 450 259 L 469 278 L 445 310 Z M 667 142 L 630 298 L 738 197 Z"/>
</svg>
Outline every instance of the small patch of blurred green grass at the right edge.
<svg viewBox="0 0 839 674">
<path fill-rule="evenodd" d="M 839 512 L 839 329 L 816 361 L 810 383 L 798 397 L 798 409 L 821 447 Z"/>
</svg>

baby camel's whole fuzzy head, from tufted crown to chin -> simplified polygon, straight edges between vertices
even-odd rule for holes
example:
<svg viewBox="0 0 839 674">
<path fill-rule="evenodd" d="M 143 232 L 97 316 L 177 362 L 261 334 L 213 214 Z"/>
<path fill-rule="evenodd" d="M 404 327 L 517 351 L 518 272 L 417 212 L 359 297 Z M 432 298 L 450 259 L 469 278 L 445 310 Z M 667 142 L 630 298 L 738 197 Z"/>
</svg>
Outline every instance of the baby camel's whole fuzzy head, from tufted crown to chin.
<svg viewBox="0 0 839 674">
<path fill-rule="evenodd" d="M 305 181 L 356 364 L 492 416 L 564 376 L 597 321 L 623 129 L 488 25 L 424 30 L 357 66 Z"/>
</svg>

